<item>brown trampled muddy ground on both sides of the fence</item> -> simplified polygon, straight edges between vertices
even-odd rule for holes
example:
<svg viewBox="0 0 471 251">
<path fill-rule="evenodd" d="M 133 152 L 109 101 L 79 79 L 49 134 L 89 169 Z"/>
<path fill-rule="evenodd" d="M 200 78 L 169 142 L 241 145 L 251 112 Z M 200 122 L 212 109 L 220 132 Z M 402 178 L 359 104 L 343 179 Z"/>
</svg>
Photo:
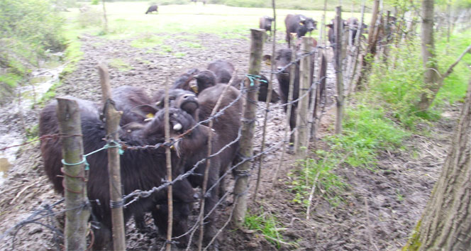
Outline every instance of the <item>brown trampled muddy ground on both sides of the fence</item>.
<svg viewBox="0 0 471 251">
<path fill-rule="evenodd" d="M 109 65 L 112 87 L 144 87 L 149 94 L 162 89 L 165 79 L 172 82 L 184 69 L 202 69 L 212 60 L 220 58 L 233 62 L 239 74 L 247 72 L 250 46 L 248 39 L 221 39 L 217 35 L 200 34 L 191 40 L 201 44 L 201 48 L 188 48 L 181 43 L 188 34 L 179 35 L 182 36 L 175 38 L 172 35 L 165 41 L 165 45 L 172 46 L 172 52 L 162 52 L 160 45 L 154 48 L 133 48 L 131 40 L 106 40 L 82 35 L 80 40 L 84 57 L 79 61 L 77 69 L 62 79 L 62 86 L 56 90 L 57 96 L 72 95 L 99 101 L 101 91 L 96 70 L 98 62 Z M 278 35 L 281 40 L 283 34 Z M 277 44 L 278 48 L 284 46 L 286 45 Z M 271 46 L 266 43 L 264 51 L 270 53 Z M 175 52 L 184 53 L 177 57 Z M 121 65 L 125 66 L 116 67 L 116 63 L 113 64 L 116 59 L 122 60 L 124 64 Z M 263 69 L 267 71 L 269 67 L 264 66 Z M 327 111 L 323 116 L 319 138 L 331 133 L 333 124 L 332 69 L 329 69 L 328 77 Z M 17 111 L 12 113 L 11 106 L 9 104 L 1 108 L 2 135 L 21 133 L 19 128 L 22 122 Z M 260 150 L 264 104 L 259 102 L 258 107 L 255 151 Z M 27 125 L 37 124 L 38 111 L 35 108 L 28 112 L 25 118 Z M 260 212 L 262 206 L 265 213 L 276 216 L 279 235 L 286 243 L 280 243 L 277 247 L 260 232 L 234 231 L 229 226 L 219 238 L 219 250 L 398 250 L 411 234 L 428 201 L 450 145 L 457 117 L 458 108 L 450 107 L 435 125 L 423 125 L 429 127 L 431 132 L 427 137 L 413 135 L 405 140 L 405 150 L 381 152 L 377 169 L 353 168 L 340 164 L 335 172 L 349 184 L 347 192 L 341 195 L 343 202 L 332 206 L 323 196 L 323 190 L 317 189 L 308 219 L 306 209 L 299 203 L 294 203 L 294 194 L 289 192 L 291 187 L 288 182 L 291 178 L 287 174 L 293 168 L 292 155 L 284 155 L 289 160 L 283 164 L 280 182 L 275 188 L 272 188 L 272 177 L 281 151 L 267 155 L 262 170 L 260 202 L 250 202 L 249 208 L 255 213 Z M 282 139 L 284 118 L 282 108 L 277 107 L 270 112 L 268 146 L 275 145 Z M 326 145 L 320 143 L 318 147 Z M 250 177 L 250 198 L 253 196 L 255 177 L 253 172 Z M 232 187 L 229 186 L 228 189 Z M 18 233 L 12 230 L 4 235 L 14 225 L 31 216 L 35 209 L 45 208 L 45 205 L 51 205 L 61 198 L 52 191 L 52 186 L 45 177 L 38 143 L 26 145 L 18 152 L 18 158 L 0 191 L 0 250 L 55 250 L 57 246 L 52 238 L 53 230 L 43 225 L 28 224 Z M 226 222 L 231 213 L 231 198 L 227 201 L 226 205 L 229 206 L 218 209 L 221 215 L 219 226 Z M 63 206 L 59 205 L 53 211 L 62 209 Z M 40 222 L 50 225 L 54 221 L 55 218 L 52 217 Z M 162 237 L 153 238 L 138 233 L 132 220 L 127 226 L 126 245 L 129 250 L 158 250 L 162 246 Z M 296 244 L 287 244 L 288 242 Z"/>
</svg>

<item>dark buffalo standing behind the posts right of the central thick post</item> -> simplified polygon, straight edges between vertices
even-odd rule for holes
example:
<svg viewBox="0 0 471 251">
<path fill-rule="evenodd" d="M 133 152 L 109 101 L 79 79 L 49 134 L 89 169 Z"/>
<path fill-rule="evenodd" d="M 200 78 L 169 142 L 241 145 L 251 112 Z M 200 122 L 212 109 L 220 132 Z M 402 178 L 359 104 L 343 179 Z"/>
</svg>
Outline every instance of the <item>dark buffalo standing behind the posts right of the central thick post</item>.
<svg viewBox="0 0 471 251">
<path fill-rule="evenodd" d="M 279 83 L 279 94 L 281 96 L 282 103 L 287 104 L 288 94 L 289 94 L 290 72 L 291 72 L 291 67 L 293 66 L 293 65 L 290 65 L 289 67 L 287 67 L 287 65 L 289 65 L 289 62 L 291 62 L 292 50 L 280 49 L 280 50 L 277 50 L 276 53 L 277 54 L 275 57 L 275 63 L 276 63 L 278 71 L 282 71 L 277 74 L 277 79 Z M 297 53 L 297 58 L 299 58 L 301 56 L 301 52 L 296 51 L 296 53 Z M 265 55 L 265 59 L 270 59 L 270 58 L 271 58 L 270 55 Z M 310 68 L 309 83 L 312 83 L 312 79 L 313 79 L 314 62 L 315 62 L 314 60 L 316 60 L 316 58 L 314 57 L 314 55 L 311 55 L 311 65 L 309 67 Z M 324 55 L 322 55 L 321 62 L 319 65 L 321 67 L 320 74 L 318 76 L 318 79 L 321 79 L 321 82 L 319 84 L 319 89 L 320 89 L 320 96 L 323 96 L 323 92 L 326 87 L 326 81 L 325 81 L 326 80 L 325 79 L 326 57 L 324 57 Z M 295 63 L 294 67 L 296 67 L 296 69 L 294 70 L 294 86 L 293 86 L 294 88 L 293 88 L 292 100 L 296 100 L 299 98 L 299 62 Z M 317 108 L 315 107 L 313 116 L 315 116 L 316 114 L 316 109 Z M 287 111 L 287 106 L 284 106 L 284 111 Z M 289 127 L 291 128 L 291 130 L 296 128 L 296 116 L 297 116 L 296 114 L 297 114 L 297 102 L 294 102 L 292 105 L 291 116 L 289 118 Z M 292 138 L 290 139 L 290 141 L 291 142 L 294 141 L 294 135 L 292 135 Z"/>
</svg>

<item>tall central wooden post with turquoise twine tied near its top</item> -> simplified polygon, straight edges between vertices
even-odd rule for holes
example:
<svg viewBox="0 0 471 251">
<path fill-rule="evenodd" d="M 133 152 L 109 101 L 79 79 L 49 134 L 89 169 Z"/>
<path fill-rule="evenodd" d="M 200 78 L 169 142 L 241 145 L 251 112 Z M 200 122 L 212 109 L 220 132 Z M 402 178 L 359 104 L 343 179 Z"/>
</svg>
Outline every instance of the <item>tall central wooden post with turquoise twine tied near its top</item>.
<svg viewBox="0 0 471 251">
<path fill-rule="evenodd" d="M 250 29 L 251 33 L 251 44 L 250 44 L 250 61 L 248 74 L 258 75 L 260 74 L 263 44 L 265 43 L 265 30 L 262 29 Z M 257 82 L 257 81 L 255 81 Z M 244 118 L 242 125 L 242 136 L 240 138 L 240 154 L 243 157 L 250 157 L 253 155 L 253 132 L 255 129 L 255 112 L 257 110 L 257 104 L 253 101 L 257 100 L 258 91 L 257 87 L 259 83 L 251 83 L 248 79 L 245 79 L 245 89 L 248 89 L 247 98 L 244 104 Z M 235 179 L 234 187 L 234 213 L 232 222 L 236 226 L 243 224 L 245 219 L 245 211 L 247 211 L 247 189 L 248 189 L 248 175 L 246 173 L 250 169 L 250 162 L 241 164 L 237 169 L 236 173 L 238 177 Z"/>
</svg>

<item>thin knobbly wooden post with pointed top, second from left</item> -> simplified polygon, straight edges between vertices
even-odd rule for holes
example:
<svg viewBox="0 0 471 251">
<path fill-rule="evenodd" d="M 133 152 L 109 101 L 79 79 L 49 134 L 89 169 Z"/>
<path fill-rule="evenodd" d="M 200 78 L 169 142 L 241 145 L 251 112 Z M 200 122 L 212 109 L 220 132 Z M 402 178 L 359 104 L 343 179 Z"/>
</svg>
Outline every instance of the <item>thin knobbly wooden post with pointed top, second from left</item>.
<svg viewBox="0 0 471 251">
<path fill-rule="evenodd" d="M 102 101 L 104 103 L 104 115 L 106 118 L 106 140 L 108 143 L 114 141 L 110 146 L 118 145 L 118 126 L 121 119 L 121 111 L 116 111 L 111 102 L 111 86 L 109 83 L 109 73 L 106 65 L 98 65 L 100 75 Z M 118 147 L 108 148 L 108 177 L 111 206 L 111 221 L 113 233 L 114 250 L 126 250 L 124 238 L 124 218 L 123 218 L 123 191 L 121 187 L 121 166 L 119 162 Z"/>
</svg>

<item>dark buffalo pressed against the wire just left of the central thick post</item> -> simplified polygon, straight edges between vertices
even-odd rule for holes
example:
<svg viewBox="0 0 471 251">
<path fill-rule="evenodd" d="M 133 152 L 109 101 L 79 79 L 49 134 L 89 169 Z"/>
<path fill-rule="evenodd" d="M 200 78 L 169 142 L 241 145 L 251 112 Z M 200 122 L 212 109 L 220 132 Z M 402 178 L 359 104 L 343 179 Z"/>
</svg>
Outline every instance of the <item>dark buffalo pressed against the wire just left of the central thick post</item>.
<svg viewBox="0 0 471 251">
<path fill-rule="evenodd" d="M 196 111 L 199 121 L 205 121 L 211 115 L 211 111 L 218 98 L 222 95 L 223 88 L 226 87 L 226 84 L 216 84 L 214 87 L 209 87 L 201 91 L 198 96 L 199 108 Z M 221 105 L 219 110 L 228 106 L 233 100 L 235 100 L 240 92 L 234 87 L 228 87 L 228 91 L 224 94 L 223 99 L 221 100 Z M 177 100 L 182 100 L 183 96 L 191 94 L 189 91 L 182 89 L 172 89 L 169 91 L 170 106 L 178 106 Z M 163 95 L 157 95 L 157 98 L 162 101 L 164 99 Z M 174 100 L 174 101 L 172 101 Z M 213 139 L 211 140 L 211 153 L 214 154 L 221 150 L 225 145 L 234 141 L 238 136 L 238 128 L 240 127 L 240 112 L 242 111 L 242 102 L 238 101 L 233 106 L 228 108 L 222 116 L 214 120 L 213 130 L 209 130 L 205 125 L 200 125 L 201 130 L 199 133 L 192 133 L 194 138 L 201 138 L 201 142 L 198 146 L 193 147 L 192 151 L 182 152 L 179 157 L 184 163 L 184 170 L 189 171 L 195 167 L 195 164 L 200 160 L 203 160 L 208 155 L 208 138 L 209 135 L 213 134 Z M 226 172 L 227 167 L 235 160 L 236 152 L 238 151 L 238 142 L 235 142 L 231 147 L 223 150 L 219 155 L 211 157 L 210 167 L 209 167 L 209 176 L 207 187 L 210 189 L 208 195 L 204 196 L 205 198 L 205 216 L 208 218 L 208 223 L 205 226 L 204 232 L 204 241 L 207 243 L 211 238 L 213 238 L 216 233 L 216 228 L 214 222 L 217 218 L 217 213 L 211 213 L 214 211 L 214 206 L 216 206 L 221 193 L 225 191 L 225 186 L 223 179 L 221 182 L 218 182 L 218 179 L 221 175 Z M 204 181 L 204 169 L 206 167 L 206 162 L 199 164 L 195 173 L 199 175 L 190 176 L 189 182 L 191 182 L 194 187 L 201 187 Z"/>
</svg>

